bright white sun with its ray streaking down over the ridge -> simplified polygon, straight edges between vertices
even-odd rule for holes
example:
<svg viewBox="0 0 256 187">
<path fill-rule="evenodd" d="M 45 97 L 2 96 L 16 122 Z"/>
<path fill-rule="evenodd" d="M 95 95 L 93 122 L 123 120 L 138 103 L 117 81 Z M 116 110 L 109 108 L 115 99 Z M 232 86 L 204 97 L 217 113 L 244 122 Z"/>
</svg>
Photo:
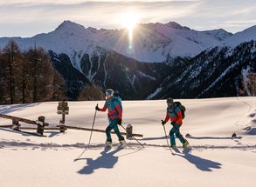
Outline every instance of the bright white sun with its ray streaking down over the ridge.
<svg viewBox="0 0 256 187">
<path fill-rule="evenodd" d="M 136 24 L 139 22 L 139 16 L 135 12 L 127 12 L 121 18 L 121 23 L 123 27 L 128 29 L 128 42 L 129 42 L 129 49 L 133 48 L 133 32 L 135 29 Z"/>
</svg>

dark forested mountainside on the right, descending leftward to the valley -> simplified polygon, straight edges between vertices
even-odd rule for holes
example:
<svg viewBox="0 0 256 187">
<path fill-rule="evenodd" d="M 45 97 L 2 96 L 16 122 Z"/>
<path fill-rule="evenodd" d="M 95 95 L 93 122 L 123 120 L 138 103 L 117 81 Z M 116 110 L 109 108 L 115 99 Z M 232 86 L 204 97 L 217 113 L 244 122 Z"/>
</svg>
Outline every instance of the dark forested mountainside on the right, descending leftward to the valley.
<svg viewBox="0 0 256 187">
<path fill-rule="evenodd" d="M 242 70 L 256 71 L 255 49 L 252 41 L 233 50 L 216 47 L 182 63 L 170 63 L 172 72 L 152 98 L 236 97 L 242 89 Z"/>
</svg>

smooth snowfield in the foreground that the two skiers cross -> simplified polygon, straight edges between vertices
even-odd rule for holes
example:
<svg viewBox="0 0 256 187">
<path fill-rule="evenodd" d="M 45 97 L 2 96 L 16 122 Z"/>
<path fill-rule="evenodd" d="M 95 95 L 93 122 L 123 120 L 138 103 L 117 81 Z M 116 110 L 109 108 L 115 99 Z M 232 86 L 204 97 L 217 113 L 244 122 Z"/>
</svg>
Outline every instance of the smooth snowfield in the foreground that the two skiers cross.
<svg viewBox="0 0 256 187">
<path fill-rule="evenodd" d="M 91 147 L 85 150 L 90 132 L 48 131 L 47 137 L 0 128 L 1 187 L 216 187 L 256 184 L 256 97 L 181 100 L 186 117 L 181 132 L 190 133 L 191 150 L 179 141 L 176 155 L 166 147 L 163 126 L 166 103 L 124 101 L 123 125 L 142 133 L 139 141 L 127 140 L 125 150 L 104 149 L 105 133 L 93 132 Z M 69 102 L 66 124 L 91 128 L 94 106 L 103 101 Z M 0 113 L 35 119 L 46 117 L 51 126 L 59 123 L 58 103 L 0 106 Z M 97 113 L 94 128 L 104 130 L 107 114 Z M 10 120 L 0 119 L 0 125 Z M 165 125 L 169 132 L 170 124 Z M 123 129 L 121 129 L 123 131 Z M 232 133 L 237 138 L 232 138 Z M 85 150 L 85 152 L 83 152 Z M 81 153 L 83 153 L 81 155 Z M 80 157 L 79 159 L 77 159 Z"/>
</svg>

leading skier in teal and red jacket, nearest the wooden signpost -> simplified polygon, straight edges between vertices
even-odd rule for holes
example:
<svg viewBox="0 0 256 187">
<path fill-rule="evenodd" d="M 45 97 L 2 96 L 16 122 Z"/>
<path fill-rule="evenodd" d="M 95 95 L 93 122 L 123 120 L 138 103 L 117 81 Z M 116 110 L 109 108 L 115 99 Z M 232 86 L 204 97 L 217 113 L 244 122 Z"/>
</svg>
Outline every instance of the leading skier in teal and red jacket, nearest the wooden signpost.
<svg viewBox="0 0 256 187">
<path fill-rule="evenodd" d="M 122 117 L 122 106 L 121 106 L 121 97 L 114 97 L 114 90 L 107 89 L 106 90 L 106 102 L 104 104 L 104 107 L 100 109 L 97 106 L 95 107 L 95 110 L 99 111 L 108 111 L 107 117 L 109 124 L 106 129 L 106 135 L 107 135 L 107 145 L 112 144 L 112 138 L 110 131 L 114 129 L 115 134 L 117 135 L 120 143 L 122 145 L 125 144 L 124 137 L 121 136 L 120 130 L 118 129 L 117 124 L 121 125 L 121 117 Z"/>
</svg>

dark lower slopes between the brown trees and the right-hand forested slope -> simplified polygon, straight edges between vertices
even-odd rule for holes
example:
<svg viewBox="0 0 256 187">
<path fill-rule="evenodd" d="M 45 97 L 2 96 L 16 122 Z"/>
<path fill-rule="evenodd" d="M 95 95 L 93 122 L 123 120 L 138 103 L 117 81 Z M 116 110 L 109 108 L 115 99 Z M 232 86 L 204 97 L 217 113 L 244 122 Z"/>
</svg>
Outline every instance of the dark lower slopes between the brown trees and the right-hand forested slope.
<svg viewBox="0 0 256 187">
<path fill-rule="evenodd" d="M 98 49 L 91 57 L 84 54 L 81 71 L 66 54 L 50 51 L 53 67 L 66 81 L 70 99 L 76 99 L 85 83 L 100 84 L 102 90 L 118 90 L 123 99 L 143 99 L 160 84 L 170 68 L 164 63 L 140 63 L 114 51 Z"/>
</svg>

